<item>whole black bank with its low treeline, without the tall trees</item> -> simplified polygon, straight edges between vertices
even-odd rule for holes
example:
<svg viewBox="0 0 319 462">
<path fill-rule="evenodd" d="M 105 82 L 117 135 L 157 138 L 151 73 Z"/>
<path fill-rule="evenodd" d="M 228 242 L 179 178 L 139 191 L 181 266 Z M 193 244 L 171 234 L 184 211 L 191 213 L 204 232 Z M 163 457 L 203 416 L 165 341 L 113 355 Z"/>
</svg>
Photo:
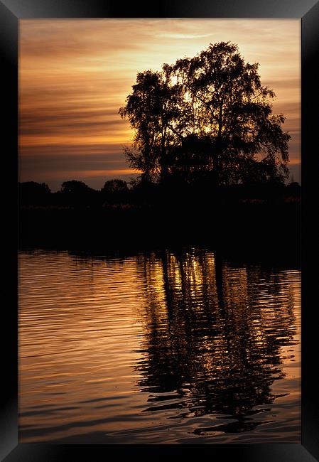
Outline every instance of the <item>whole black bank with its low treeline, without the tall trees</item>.
<svg viewBox="0 0 319 462">
<path fill-rule="evenodd" d="M 205 191 L 27 193 L 19 247 L 121 253 L 204 246 L 246 259 L 299 264 L 300 186 Z M 34 186 L 34 185 L 33 185 Z M 29 185 L 29 190 L 30 190 Z"/>
</svg>

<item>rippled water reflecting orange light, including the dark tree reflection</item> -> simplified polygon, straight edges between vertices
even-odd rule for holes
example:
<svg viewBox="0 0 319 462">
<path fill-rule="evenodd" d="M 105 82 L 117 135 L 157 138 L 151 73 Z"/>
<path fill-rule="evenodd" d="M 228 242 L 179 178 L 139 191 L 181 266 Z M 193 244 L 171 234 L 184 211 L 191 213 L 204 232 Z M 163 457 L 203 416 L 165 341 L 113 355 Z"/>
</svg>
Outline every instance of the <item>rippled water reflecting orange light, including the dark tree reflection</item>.
<svg viewBox="0 0 319 462">
<path fill-rule="evenodd" d="M 301 274 L 19 254 L 19 442 L 301 441 Z"/>
</svg>

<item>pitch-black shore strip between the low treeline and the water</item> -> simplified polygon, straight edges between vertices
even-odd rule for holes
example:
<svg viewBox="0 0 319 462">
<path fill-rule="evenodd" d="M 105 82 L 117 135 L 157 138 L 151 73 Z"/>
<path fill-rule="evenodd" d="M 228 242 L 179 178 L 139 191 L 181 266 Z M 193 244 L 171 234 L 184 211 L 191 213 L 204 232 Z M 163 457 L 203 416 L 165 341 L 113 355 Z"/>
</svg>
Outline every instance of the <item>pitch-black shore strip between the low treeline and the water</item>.
<svg viewBox="0 0 319 462">
<path fill-rule="evenodd" d="M 300 203 L 21 207 L 18 249 L 136 254 L 203 247 L 300 265 Z"/>
</svg>

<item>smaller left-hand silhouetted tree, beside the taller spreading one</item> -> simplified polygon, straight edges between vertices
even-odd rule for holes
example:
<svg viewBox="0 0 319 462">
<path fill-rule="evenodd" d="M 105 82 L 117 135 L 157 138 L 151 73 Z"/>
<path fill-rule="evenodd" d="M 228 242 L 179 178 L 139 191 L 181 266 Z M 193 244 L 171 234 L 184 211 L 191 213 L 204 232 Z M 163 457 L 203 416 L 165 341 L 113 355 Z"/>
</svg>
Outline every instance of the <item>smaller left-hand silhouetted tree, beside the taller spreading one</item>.
<svg viewBox="0 0 319 462">
<path fill-rule="evenodd" d="M 169 72 L 139 72 L 133 93 L 121 117 L 135 129 L 134 144 L 125 154 L 131 166 L 143 172 L 143 181 L 163 178 L 168 173 L 168 150 L 182 138 L 176 121 L 183 102 L 181 85 L 172 85 Z"/>
</svg>

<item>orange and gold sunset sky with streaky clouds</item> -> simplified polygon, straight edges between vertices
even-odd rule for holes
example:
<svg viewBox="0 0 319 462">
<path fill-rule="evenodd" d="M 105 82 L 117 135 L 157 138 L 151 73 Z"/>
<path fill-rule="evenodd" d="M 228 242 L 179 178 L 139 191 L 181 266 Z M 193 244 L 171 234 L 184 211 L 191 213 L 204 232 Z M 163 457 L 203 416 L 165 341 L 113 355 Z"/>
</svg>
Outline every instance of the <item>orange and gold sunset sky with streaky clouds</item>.
<svg viewBox="0 0 319 462">
<path fill-rule="evenodd" d="M 299 19 L 23 19 L 19 47 L 19 181 L 129 181 L 123 147 L 129 122 L 119 107 L 136 73 L 231 41 L 261 83 L 276 93 L 291 134 L 290 171 L 300 181 L 301 21 Z"/>
</svg>

